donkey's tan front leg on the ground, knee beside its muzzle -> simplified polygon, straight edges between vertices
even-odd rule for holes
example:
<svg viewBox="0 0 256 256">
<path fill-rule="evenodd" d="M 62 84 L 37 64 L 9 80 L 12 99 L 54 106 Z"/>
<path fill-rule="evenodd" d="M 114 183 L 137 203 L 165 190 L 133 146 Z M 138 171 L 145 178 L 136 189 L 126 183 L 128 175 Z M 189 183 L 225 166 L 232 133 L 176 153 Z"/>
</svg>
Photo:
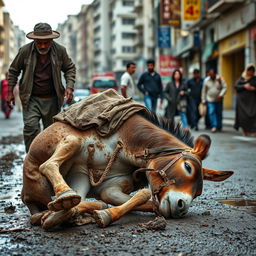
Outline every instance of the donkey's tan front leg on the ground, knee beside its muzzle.
<svg viewBox="0 0 256 256">
<path fill-rule="evenodd" d="M 112 192 L 114 191 L 117 192 L 118 189 L 112 189 Z M 102 191 L 102 193 L 104 193 L 104 191 Z M 119 190 L 119 198 L 121 199 L 121 201 L 125 199 L 124 195 L 125 194 Z M 136 207 L 142 204 L 145 204 L 150 199 L 150 197 L 151 197 L 151 193 L 148 189 L 141 189 L 134 196 L 130 197 L 128 201 L 126 201 L 125 203 L 119 206 L 114 206 L 112 208 L 105 209 L 105 210 L 95 210 L 94 218 L 98 226 L 106 227 L 110 223 L 120 219 L 127 212 L 134 210 Z M 115 198 L 114 203 L 118 203 L 117 194 L 115 194 L 114 198 Z"/>
</svg>

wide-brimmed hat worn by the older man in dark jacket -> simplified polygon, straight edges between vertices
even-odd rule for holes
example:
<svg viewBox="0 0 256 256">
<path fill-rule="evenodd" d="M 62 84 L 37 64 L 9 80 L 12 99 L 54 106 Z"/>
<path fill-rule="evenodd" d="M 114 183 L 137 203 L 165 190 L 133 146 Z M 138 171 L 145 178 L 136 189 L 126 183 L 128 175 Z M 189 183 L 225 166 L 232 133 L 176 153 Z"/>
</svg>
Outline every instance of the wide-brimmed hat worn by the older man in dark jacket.
<svg viewBox="0 0 256 256">
<path fill-rule="evenodd" d="M 60 33 L 52 30 L 52 27 L 47 23 L 38 23 L 34 27 L 34 31 L 28 33 L 29 39 L 54 39 L 60 36 Z"/>
</svg>

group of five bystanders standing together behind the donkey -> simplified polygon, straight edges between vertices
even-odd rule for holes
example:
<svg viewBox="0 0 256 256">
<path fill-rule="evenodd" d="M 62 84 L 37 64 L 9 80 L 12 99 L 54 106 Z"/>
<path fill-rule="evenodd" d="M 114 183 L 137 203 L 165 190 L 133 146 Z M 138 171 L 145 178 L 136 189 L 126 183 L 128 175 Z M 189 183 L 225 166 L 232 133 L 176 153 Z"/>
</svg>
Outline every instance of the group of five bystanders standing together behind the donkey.
<svg viewBox="0 0 256 256">
<path fill-rule="evenodd" d="M 127 97 L 126 90 L 135 92 L 135 83 L 132 79 L 135 69 L 135 63 L 128 63 L 127 71 L 121 77 L 121 93 L 124 97 Z M 125 79 L 127 73 L 129 80 Z M 200 70 L 195 69 L 193 77 L 186 80 L 183 77 L 183 69 L 177 68 L 173 71 L 170 82 L 163 87 L 161 76 L 155 71 L 154 60 L 148 60 L 147 71 L 140 76 L 137 88 L 144 96 L 146 107 L 152 112 L 156 112 L 158 99 L 160 107 L 165 99 L 165 117 L 174 120 L 175 116 L 179 116 L 184 129 L 198 130 L 198 122 L 202 115 L 199 112 L 199 105 L 203 104 L 207 109 L 205 128 L 211 129 L 212 132 L 222 130 L 223 97 L 227 86 L 214 69 L 208 70 L 205 79 L 201 77 Z M 132 97 L 131 94 L 130 96 Z"/>
</svg>

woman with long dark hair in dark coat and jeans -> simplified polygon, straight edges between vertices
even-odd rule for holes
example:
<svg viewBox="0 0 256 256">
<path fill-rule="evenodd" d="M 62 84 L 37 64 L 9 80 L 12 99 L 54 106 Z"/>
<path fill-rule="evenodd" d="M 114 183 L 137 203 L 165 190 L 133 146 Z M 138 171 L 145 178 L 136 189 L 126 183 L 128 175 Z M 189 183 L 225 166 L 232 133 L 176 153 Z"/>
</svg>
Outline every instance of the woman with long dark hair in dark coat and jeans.
<svg viewBox="0 0 256 256">
<path fill-rule="evenodd" d="M 185 129 L 188 129 L 187 95 L 187 86 L 182 78 L 182 73 L 179 69 L 175 69 L 171 81 L 167 83 L 164 89 L 164 97 L 168 101 L 165 116 L 174 121 L 175 115 L 178 114 L 181 118 L 182 127 Z"/>
</svg>

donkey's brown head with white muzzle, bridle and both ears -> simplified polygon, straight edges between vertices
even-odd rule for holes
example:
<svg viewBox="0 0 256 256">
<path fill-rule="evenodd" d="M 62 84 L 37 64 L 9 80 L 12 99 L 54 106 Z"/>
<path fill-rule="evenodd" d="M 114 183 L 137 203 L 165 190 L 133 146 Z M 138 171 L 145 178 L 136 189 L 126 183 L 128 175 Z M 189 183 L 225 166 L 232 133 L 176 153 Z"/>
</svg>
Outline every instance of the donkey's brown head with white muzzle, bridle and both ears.
<svg viewBox="0 0 256 256">
<path fill-rule="evenodd" d="M 158 157 L 149 162 L 147 178 L 153 197 L 159 202 L 159 212 L 164 217 L 184 216 L 192 200 L 201 195 L 203 179 L 223 181 L 233 171 L 202 168 L 211 144 L 208 135 L 199 136 L 194 147 L 180 153 Z"/>
</svg>

